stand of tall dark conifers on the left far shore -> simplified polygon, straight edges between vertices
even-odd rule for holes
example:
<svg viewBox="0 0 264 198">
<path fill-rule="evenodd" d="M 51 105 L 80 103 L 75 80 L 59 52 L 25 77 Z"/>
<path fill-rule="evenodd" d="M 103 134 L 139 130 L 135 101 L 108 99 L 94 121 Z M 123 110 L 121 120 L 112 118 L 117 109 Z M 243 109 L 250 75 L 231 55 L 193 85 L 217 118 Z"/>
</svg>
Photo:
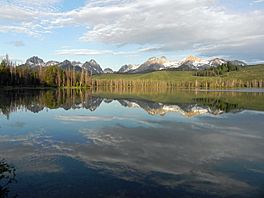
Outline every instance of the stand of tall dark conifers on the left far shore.
<svg viewBox="0 0 264 198">
<path fill-rule="evenodd" d="M 65 70 L 58 66 L 16 67 L 8 60 L 0 64 L 0 86 L 48 86 L 48 87 L 90 87 L 92 77 L 89 71 L 76 71 L 74 67 Z"/>
</svg>

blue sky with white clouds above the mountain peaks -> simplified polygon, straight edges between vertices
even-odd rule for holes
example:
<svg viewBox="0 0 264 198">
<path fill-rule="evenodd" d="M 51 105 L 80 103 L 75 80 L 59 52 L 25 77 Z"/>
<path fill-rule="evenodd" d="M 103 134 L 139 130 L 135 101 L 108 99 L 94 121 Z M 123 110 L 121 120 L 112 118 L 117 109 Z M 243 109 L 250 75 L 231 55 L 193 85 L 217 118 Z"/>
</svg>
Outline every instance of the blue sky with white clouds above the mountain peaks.
<svg viewBox="0 0 264 198">
<path fill-rule="evenodd" d="M 0 0 L 0 57 L 114 70 L 153 56 L 264 62 L 264 0 Z"/>
</svg>

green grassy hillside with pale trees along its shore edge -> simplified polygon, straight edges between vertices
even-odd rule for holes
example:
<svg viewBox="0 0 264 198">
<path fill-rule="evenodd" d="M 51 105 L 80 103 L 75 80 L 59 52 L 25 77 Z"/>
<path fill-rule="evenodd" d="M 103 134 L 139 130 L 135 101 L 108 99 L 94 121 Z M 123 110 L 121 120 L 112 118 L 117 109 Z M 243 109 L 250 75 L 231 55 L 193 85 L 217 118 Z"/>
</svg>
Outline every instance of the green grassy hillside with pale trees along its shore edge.
<svg viewBox="0 0 264 198">
<path fill-rule="evenodd" d="M 145 74 L 101 74 L 93 77 L 95 87 L 118 90 L 176 88 L 263 88 L 264 65 L 243 67 L 217 76 L 196 76 L 196 71 L 157 71 Z"/>
</svg>

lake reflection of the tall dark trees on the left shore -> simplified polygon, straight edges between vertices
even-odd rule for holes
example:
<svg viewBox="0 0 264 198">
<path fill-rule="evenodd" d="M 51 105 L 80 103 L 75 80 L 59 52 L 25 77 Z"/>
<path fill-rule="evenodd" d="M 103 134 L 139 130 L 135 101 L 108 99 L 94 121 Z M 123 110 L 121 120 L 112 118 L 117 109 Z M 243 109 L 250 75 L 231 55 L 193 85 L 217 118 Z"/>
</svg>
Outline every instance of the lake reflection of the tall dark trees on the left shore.
<svg viewBox="0 0 264 198">
<path fill-rule="evenodd" d="M 96 105 L 91 89 L 0 89 L 0 115 L 6 115 L 7 119 L 10 113 L 21 109 L 37 113 L 44 107 L 92 110 Z"/>
</svg>

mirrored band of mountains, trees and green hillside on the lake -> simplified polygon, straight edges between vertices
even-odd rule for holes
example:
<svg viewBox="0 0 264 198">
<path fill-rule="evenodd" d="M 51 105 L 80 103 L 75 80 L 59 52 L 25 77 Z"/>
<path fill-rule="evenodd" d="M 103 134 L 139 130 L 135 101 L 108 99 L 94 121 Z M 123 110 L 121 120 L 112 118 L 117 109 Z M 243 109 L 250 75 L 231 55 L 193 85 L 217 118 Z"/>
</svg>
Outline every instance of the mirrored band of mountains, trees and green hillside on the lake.
<svg viewBox="0 0 264 198">
<path fill-rule="evenodd" d="M 178 98 L 182 94 L 184 98 Z M 250 106 L 249 101 L 251 95 L 257 100 L 257 102 L 254 102 L 255 106 L 253 107 Z M 45 108 L 63 108 L 65 110 L 83 108 L 95 111 L 103 101 L 111 103 L 116 100 L 124 107 L 142 108 L 150 115 L 163 116 L 169 112 L 178 112 L 186 117 L 192 117 L 205 113 L 213 115 L 226 112 L 235 113 L 244 109 L 263 110 L 263 105 L 257 104 L 258 101 L 264 99 L 263 93 L 220 92 L 215 94 L 208 92 L 204 94 L 192 91 L 165 94 L 160 101 L 159 98 L 155 98 L 155 95 L 146 95 L 145 93 L 143 94 L 144 97 L 138 97 L 133 93 L 125 94 L 125 96 L 120 95 L 120 93 L 92 92 L 83 89 L 1 90 L 0 113 L 9 117 L 10 113 L 18 110 L 29 110 L 38 113 Z M 173 98 L 171 98 L 172 96 Z"/>
</svg>

